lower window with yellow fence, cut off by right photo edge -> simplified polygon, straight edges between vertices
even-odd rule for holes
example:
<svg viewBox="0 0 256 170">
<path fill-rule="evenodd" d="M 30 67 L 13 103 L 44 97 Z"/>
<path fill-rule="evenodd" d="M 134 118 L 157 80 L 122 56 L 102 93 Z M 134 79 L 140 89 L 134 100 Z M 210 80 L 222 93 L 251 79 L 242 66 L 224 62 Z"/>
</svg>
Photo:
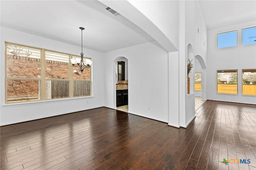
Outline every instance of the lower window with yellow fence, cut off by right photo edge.
<svg viewBox="0 0 256 170">
<path fill-rule="evenodd" d="M 243 69 L 242 83 L 243 95 L 256 95 L 256 69 Z"/>
</svg>

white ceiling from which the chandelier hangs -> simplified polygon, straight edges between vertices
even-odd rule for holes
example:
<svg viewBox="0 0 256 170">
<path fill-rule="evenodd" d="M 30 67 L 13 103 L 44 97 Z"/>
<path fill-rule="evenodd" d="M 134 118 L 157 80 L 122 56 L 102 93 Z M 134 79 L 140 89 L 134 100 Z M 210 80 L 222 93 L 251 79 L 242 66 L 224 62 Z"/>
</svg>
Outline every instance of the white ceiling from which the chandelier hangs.
<svg viewBox="0 0 256 170">
<path fill-rule="evenodd" d="M 106 52 L 154 39 L 99 1 L 1 1 L 1 26 Z"/>
</svg>

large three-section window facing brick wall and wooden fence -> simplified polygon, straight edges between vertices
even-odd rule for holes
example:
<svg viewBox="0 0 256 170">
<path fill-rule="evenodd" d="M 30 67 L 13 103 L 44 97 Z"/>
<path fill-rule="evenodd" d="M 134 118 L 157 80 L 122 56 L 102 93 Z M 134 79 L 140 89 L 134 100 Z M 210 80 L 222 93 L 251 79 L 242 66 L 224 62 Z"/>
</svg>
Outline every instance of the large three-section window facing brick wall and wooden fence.
<svg viewBox="0 0 256 170">
<path fill-rule="evenodd" d="M 70 67 L 70 57 L 6 43 L 6 103 L 91 95 L 91 69 Z"/>
</svg>

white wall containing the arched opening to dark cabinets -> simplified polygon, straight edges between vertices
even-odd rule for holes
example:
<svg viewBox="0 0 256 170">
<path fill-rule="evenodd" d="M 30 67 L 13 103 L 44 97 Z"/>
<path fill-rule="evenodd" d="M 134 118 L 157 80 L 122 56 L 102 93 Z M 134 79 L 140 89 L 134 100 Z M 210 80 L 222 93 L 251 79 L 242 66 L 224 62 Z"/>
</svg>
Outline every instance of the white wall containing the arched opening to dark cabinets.
<svg viewBox="0 0 256 170">
<path fill-rule="evenodd" d="M 116 99 L 113 62 L 120 56 L 126 57 L 129 63 L 128 112 L 168 122 L 168 53 L 154 43 L 143 43 L 104 53 L 105 106 L 116 108 L 113 104 Z"/>
</svg>

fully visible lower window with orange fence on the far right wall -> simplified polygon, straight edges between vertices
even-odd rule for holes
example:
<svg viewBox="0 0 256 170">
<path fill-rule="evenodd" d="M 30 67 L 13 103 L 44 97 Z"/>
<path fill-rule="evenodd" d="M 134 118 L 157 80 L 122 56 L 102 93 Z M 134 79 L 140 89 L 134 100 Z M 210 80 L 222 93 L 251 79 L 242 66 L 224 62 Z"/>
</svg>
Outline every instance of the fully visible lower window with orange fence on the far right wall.
<svg viewBox="0 0 256 170">
<path fill-rule="evenodd" d="M 237 70 L 217 71 L 217 93 L 237 94 Z"/>
</svg>

